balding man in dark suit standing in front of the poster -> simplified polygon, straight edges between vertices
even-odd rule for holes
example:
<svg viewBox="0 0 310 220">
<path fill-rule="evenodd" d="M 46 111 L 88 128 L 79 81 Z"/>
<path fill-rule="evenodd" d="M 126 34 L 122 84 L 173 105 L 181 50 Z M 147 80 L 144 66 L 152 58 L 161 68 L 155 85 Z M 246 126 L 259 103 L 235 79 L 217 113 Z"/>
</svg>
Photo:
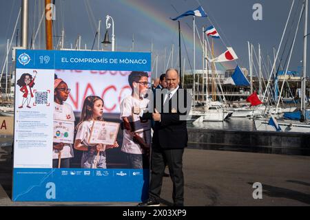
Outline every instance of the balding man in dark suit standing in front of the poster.
<svg viewBox="0 0 310 220">
<path fill-rule="evenodd" d="M 186 115 L 191 100 L 179 87 L 180 78 L 176 69 L 166 72 L 167 89 L 159 90 L 154 99 L 154 113 L 143 113 L 142 119 L 153 119 L 152 176 L 149 199 L 138 206 L 159 206 L 165 164 L 169 167 L 173 182 L 174 206 L 184 205 L 183 153 L 187 146 Z M 159 95 L 158 95 L 159 94 Z M 162 98 L 158 98 L 162 97 Z M 159 102 L 159 103 L 158 103 Z M 184 108 L 185 107 L 185 108 Z M 158 111 L 157 111 L 158 109 Z"/>
</svg>

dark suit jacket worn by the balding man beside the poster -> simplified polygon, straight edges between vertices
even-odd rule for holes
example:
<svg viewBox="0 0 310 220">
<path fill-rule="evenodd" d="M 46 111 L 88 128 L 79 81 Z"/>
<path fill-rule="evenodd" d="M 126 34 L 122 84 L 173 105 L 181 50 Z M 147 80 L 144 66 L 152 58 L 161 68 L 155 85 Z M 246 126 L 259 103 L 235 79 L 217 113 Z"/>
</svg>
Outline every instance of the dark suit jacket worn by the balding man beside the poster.
<svg viewBox="0 0 310 220">
<path fill-rule="evenodd" d="M 184 97 L 181 97 L 181 96 Z M 179 89 L 170 100 L 163 103 L 165 96 L 161 100 L 154 98 L 154 108 L 156 101 L 161 101 L 161 109 L 157 109 L 161 113 L 161 122 L 155 122 L 154 133 L 152 138 L 153 146 L 161 146 L 162 148 L 185 148 L 187 146 L 187 128 L 186 120 L 180 120 L 181 115 L 186 115 L 187 112 L 180 112 L 178 106 L 181 99 L 184 98 L 185 106 L 187 104 L 187 93 L 180 93 Z M 174 103 L 174 104 L 173 104 Z M 183 103 L 183 102 L 180 102 Z M 188 104 L 189 109 L 191 103 Z M 169 109 L 168 112 L 163 110 Z M 187 111 L 189 111 L 187 109 Z M 142 119 L 152 119 L 152 113 L 143 113 Z M 182 118 L 181 118 L 182 119 Z"/>
</svg>

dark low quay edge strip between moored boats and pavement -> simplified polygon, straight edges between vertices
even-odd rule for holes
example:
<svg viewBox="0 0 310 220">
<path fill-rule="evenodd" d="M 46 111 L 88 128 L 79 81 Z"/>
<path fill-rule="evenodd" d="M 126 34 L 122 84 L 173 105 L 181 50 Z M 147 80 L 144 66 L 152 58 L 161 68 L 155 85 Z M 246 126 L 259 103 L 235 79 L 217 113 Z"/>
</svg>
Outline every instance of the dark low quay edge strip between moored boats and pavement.
<svg viewBox="0 0 310 220">
<path fill-rule="evenodd" d="M 198 149 L 310 155 L 310 134 L 189 128 L 189 145 Z"/>
</svg>

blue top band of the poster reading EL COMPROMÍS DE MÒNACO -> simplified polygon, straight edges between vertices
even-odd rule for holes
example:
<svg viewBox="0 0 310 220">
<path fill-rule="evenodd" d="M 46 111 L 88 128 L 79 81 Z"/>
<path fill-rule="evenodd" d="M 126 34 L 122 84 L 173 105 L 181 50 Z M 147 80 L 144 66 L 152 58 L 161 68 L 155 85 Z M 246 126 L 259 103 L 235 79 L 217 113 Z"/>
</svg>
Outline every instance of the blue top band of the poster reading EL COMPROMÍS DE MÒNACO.
<svg viewBox="0 0 310 220">
<path fill-rule="evenodd" d="M 25 61 L 21 58 L 25 58 Z M 17 50 L 19 69 L 79 69 L 144 71 L 151 69 L 149 52 L 92 52 L 72 50 Z"/>
</svg>

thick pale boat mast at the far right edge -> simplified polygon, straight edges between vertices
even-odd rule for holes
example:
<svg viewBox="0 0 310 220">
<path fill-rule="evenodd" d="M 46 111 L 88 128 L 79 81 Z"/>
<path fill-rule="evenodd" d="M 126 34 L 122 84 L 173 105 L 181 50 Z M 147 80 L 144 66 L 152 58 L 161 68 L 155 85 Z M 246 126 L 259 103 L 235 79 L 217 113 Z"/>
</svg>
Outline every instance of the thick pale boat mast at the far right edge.
<svg viewBox="0 0 310 220">
<path fill-rule="evenodd" d="M 307 121 L 306 115 L 306 73 L 307 73 L 307 25 L 308 25 L 308 0 L 304 0 L 304 57 L 302 61 L 303 72 L 302 72 L 302 97 L 301 97 L 301 112 L 302 120 Z"/>
</svg>

